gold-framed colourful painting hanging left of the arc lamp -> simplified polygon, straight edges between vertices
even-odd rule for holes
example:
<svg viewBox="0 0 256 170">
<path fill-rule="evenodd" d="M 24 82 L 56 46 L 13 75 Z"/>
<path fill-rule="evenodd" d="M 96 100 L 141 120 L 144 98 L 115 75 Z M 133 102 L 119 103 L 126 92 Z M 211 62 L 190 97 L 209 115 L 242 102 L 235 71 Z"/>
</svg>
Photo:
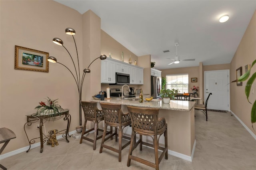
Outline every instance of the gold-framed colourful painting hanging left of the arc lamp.
<svg viewBox="0 0 256 170">
<path fill-rule="evenodd" d="M 49 53 L 15 45 L 14 69 L 49 72 Z"/>
</svg>

